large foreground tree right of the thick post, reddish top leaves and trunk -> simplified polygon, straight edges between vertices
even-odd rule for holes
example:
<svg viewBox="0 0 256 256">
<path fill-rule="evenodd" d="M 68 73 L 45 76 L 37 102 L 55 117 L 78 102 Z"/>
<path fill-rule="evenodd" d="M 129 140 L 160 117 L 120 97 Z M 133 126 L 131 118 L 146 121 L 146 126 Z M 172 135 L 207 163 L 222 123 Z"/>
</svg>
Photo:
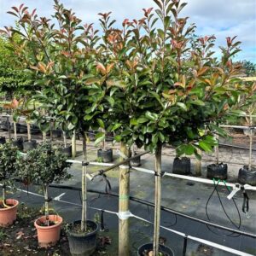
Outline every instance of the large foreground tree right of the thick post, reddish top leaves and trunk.
<svg viewBox="0 0 256 256">
<path fill-rule="evenodd" d="M 185 3 L 154 2 L 159 18 L 153 9 L 144 9 L 141 20 L 124 20 L 123 31 L 109 27 L 105 38 L 116 61 L 114 67 L 119 69 L 120 81 L 108 82 L 113 87 L 109 112 L 113 113 L 115 140 L 128 147 L 136 143 L 155 154 L 154 242 L 148 254 L 156 256 L 161 251 L 163 145 L 174 146 L 177 155 L 195 154 L 198 159 L 200 151 L 212 152 L 218 144 L 215 127 L 247 88 L 236 78 L 240 67 L 230 60 L 240 42 L 227 38 L 221 61 L 217 61 L 212 57 L 214 37 L 199 38 L 200 47 L 191 47 L 189 38 L 195 26 L 187 26 L 187 18 L 178 17 Z M 109 20 L 108 14 L 102 16 Z"/>
</svg>

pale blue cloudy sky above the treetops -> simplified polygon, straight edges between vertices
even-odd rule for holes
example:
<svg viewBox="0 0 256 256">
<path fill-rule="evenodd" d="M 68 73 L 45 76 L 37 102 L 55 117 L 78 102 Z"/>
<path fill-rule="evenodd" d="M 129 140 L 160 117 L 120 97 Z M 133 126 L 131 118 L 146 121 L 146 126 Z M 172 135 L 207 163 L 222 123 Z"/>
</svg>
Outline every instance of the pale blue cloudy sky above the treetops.
<svg viewBox="0 0 256 256">
<path fill-rule="evenodd" d="M 187 0 L 189 4 L 181 15 L 189 16 L 197 26 L 196 34 L 212 35 L 224 44 L 225 38 L 238 36 L 242 42 L 239 60 L 256 63 L 256 0 Z M 0 0 L 0 27 L 14 24 L 14 16 L 6 14 L 11 6 L 25 3 L 30 9 L 38 9 L 38 15 L 49 16 L 53 12 L 53 0 Z M 140 18 L 142 9 L 154 7 L 153 0 L 62 0 L 72 8 L 84 23 L 97 23 L 99 12 L 113 12 L 116 20 Z"/>
</svg>

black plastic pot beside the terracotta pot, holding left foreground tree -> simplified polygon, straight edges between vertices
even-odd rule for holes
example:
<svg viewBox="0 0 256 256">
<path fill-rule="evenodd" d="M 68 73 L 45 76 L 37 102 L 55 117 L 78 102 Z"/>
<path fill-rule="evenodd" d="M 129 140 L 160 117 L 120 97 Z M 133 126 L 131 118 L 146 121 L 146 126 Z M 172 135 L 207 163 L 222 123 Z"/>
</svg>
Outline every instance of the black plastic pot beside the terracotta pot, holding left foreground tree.
<svg viewBox="0 0 256 256">
<path fill-rule="evenodd" d="M 73 224 L 80 224 L 75 221 Z M 73 256 L 90 256 L 96 250 L 96 234 L 98 225 L 94 221 L 86 221 L 87 228 L 92 230 L 90 233 L 75 233 L 71 230 L 67 231 L 70 253 Z"/>
</svg>

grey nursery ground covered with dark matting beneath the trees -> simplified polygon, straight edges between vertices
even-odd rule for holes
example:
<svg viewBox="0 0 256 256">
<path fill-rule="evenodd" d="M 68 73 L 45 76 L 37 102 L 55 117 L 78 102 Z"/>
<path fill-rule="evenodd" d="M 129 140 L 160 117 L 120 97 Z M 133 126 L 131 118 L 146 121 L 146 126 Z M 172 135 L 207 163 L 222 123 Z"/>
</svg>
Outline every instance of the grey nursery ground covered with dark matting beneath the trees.
<svg viewBox="0 0 256 256">
<path fill-rule="evenodd" d="M 80 142 L 78 142 L 78 150 L 80 150 Z M 110 145 L 109 145 L 110 146 Z M 96 160 L 96 150 L 90 144 L 89 160 Z M 255 165 L 255 151 L 253 152 L 253 165 Z M 172 148 L 165 148 L 163 150 L 162 167 L 165 172 L 172 172 L 172 161 L 174 157 L 174 151 Z M 115 160 L 118 156 L 115 154 Z M 81 156 L 77 157 L 81 160 Z M 214 157 L 210 154 L 203 155 L 202 162 L 202 176 L 206 176 L 206 166 L 212 163 Z M 247 150 L 237 150 L 232 148 L 220 148 L 220 160 L 229 163 L 229 179 L 235 181 L 239 168 L 244 164 L 247 164 Z M 192 172 L 194 172 L 195 160 L 192 159 Z M 230 164 L 232 163 L 232 164 Z M 147 154 L 142 158 L 142 166 L 148 169 L 154 169 L 154 155 Z M 89 172 L 96 172 L 96 170 L 102 169 L 101 167 L 89 166 Z M 81 166 L 74 164 L 70 169 L 73 174 L 73 178 L 65 185 L 79 188 L 81 185 Z M 108 179 L 112 185 L 113 193 L 118 193 L 119 190 L 119 173 L 118 169 L 108 172 Z M 96 189 L 99 191 L 105 191 L 105 183 L 101 177 L 97 177 L 94 181 L 88 181 L 88 189 Z M 207 219 L 206 204 L 209 196 L 212 193 L 213 186 L 202 183 L 188 183 L 185 180 L 164 177 L 162 182 L 162 205 L 170 207 L 178 212 L 183 212 L 197 218 Z M 42 191 L 38 187 L 30 187 L 30 191 L 38 192 L 42 194 Z M 239 215 L 236 211 L 236 207 L 232 201 L 228 201 L 226 196 L 228 192 L 224 187 L 219 188 L 221 200 L 223 201 L 226 212 L 230 215 L 230 218 L 239 224 Z M 50 189 L 50 195 L 52 197 L 61 195 L 62 201 L 69 201 L 72 203 L 80 204 L 80 196 L 78 191 L 68 189 Z M 154 176 L 131 170 L 131 195 L 137 198 L 154 201 Z M 256 234 L 256 194 L 248 193 L 250 197 L 250 218 L 241 212 L 242 195 L 238 193 L 235 197 L 236 204 L 241 214 L 241 230 Z M 26 195 L 24 192 L 17 192 L 13 197 L 18 197 L 20 201 L 25 202 L 29 206 L 42 207 L 43 199 L 35 195 Z M 118 212 L 118 199 L 110 195 L 97 195 L 89 193 L 88 204 L 90 207 L 98 207 L 107 209 L 113 212 Z M 80 218 L 81 208 L 79 206 L 69 205 L 62 202 L 54 201 L 51 203 L 51 207 L 58 212 L 66 222 L 71 222 Z M 131 212 L 139 217 L 146 218 L 149 221 L 154 221 L 154 211 L 151 207 L 139 205 L 136 202 L 131 201 Z M 101 212 L 99 212 L 101 213 Z M 218 201 L 216 193 L 212 196 L 212 200 L 209 203 L 208 213 L 212 222 L 223 224 L 224 226 L 232 227 L 230 221 L 224 215 L 224 211 Z M 89 218 L 95 218 L 96 211 L 91 210 L 88 212 Z M 153 225 L 147 224 L 137 218 L 130 218 L 131 222 L 131 255 L 136 255 L 137 247 L 152 241 Z M 109 236 L 112 239 L 112 244 L 107 247 L 107 255 L 117 255 L 118 250 L 118 218 L 114 214 L 104 213 L 104 223 L 106 230 L 101 236 Z M 177 217 L 174 215 L 162 212 L 161 224 L 166 227 L 170 227 L 173 230 L 182 231 L 185 234 L 191 236 L 197 236 L 208 241 L 214 241 L 227 247 L 236 248 L 243 252 L 256 255 L 256 241 L 253 238 L 245 236 L 230 237 L 229 232 L 222 230 L 209 230 L 205 224 L 198 224 L 195 221 L 191 221 L 186 218 Z M 214 233 L 213 233 L 214 232 Z M 217 233 L 217 234 L 216 234 Z M 182 255 L 183 238 L 174 235 L 167 230 L 161 230 L 160 236 L 163 237 L 163 241 L 166 240 L 166 245 L 172 247 L 175 255 Z M 47 255 L 43 253 L 42 255 Z M 58 255 L 58 254 L 49 254 Z M 66 252 L 61 252 L 59 255 L 69 255 Z M 225 253 L 216 248 L 204 247 L 201 244 L 188 241 L 187 255 L 220 255 L 228 256 L 232 253 Z"/>
</svg>

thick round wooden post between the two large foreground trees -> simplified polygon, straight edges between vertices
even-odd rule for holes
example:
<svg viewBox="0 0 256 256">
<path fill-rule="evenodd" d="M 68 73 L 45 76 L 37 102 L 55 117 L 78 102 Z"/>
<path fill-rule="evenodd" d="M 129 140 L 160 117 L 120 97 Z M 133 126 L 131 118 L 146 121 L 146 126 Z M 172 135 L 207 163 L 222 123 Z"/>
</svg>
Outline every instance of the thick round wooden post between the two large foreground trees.
<svg viewBox="0 0 256 256">
<path fill-rule="evenodd" d="M 120 151 L 130 157 L 130 150 L 121 143 Z M 125 160 L 122 157 L 120 160 Z M 130 168 L 129 163 L 119 166 L 119 213 L 129 212 Z M 125 214 L 125 213 L 123 213 Z M 129 218 L 119 218 L 119 256 L 129 256 Z"/>
</svg>

